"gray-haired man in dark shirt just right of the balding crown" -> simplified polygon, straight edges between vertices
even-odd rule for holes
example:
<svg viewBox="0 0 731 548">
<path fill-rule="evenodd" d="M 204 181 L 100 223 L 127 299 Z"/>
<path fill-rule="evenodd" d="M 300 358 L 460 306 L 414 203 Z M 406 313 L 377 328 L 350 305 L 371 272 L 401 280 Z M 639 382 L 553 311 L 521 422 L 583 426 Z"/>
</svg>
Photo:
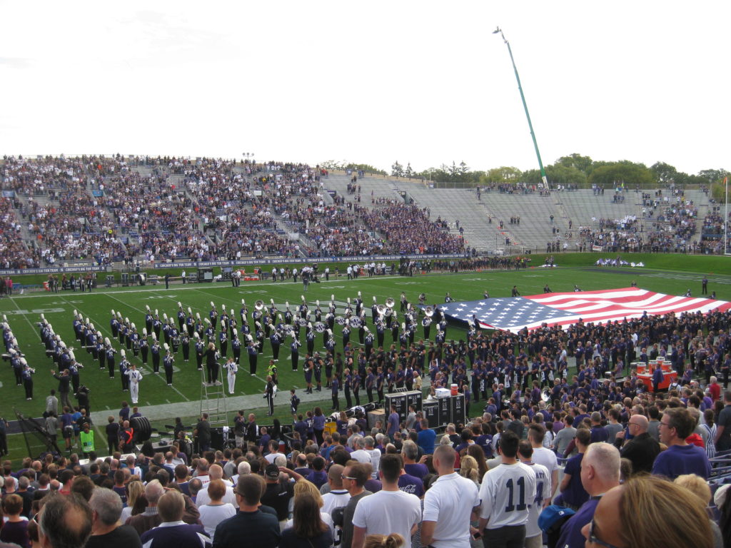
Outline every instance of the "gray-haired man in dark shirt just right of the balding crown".
<svg viewBox="0 0 731 548">
<path fill-rule="evenodd" d="M 120 525 L 122 500 L 113 490 L 96 487 L 91 494 L 91 537 L 85 548 L 142 548 L 140 536 Z"/>
</svg>

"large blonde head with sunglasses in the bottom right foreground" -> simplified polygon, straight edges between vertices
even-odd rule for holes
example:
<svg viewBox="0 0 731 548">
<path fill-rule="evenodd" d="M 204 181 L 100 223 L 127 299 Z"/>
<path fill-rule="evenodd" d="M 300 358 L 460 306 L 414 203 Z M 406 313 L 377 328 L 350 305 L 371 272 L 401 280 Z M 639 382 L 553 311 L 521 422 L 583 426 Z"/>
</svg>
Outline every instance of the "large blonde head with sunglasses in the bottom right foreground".
<svg viewBox="0 0 731 548">
<path fill-rule="evenodd" d="M 581 533 L 586 548 L 713 548 L 703 501 L 657 476 L 635 476 L 607 491 Z"/>
</svg>

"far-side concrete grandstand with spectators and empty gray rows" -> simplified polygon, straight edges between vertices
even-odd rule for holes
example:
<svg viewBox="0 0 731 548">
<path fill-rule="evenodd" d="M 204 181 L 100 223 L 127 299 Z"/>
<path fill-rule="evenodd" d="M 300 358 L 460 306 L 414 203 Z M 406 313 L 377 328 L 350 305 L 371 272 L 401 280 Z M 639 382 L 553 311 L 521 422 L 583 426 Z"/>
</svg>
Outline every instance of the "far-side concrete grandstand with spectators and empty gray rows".
<svg viewBox="0 0 731 548">
<path fill-rule="evenodd" d="M 673 186 L 433 189 L 423 180 L 305 164 L 118 155 L 6 157 L 1 183 L 6 268 L 263 256 L 722 252 L 722 212 L 708 192 Z"/>
</svg>

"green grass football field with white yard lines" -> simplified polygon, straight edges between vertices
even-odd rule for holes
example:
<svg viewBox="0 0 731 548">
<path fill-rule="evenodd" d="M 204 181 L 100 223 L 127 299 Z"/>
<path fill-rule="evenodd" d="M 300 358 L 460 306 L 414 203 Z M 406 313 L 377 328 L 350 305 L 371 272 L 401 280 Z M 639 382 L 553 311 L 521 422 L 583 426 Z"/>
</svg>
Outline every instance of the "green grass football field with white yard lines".
<svg viewBox="0 0 731 548">
<path fill-rule="evenodd" d="M 145 326 L 145 305 L 151 309 L 157 309 L 162 318 L 163 313 L 175 318 L 178 310 L 178 301 L 184 309 L 192 308 L 193 313 L 200 313 L 202 318 L 208 317 L 211 308 L 211 301 L 216 308 L 225 305 L 227 309 L 233 309 L 238 317 L 241 299 L 246 300 L 249 307 L 249 324 L 251 312 L 254 311 L 254 302 L 262 300 L 269 305 L 274 300 L 277 308 L 284 312 L 285 302 L 289 302 L 292 310 L 300 304 L 300 295 L 305 295 L 311 311 L 314 302 L 319 300 L 323 311 L 323 318 L 327 313 L 327 304 L 331 295 L 334 295 L 338 305 L 338 313 L 341 313 L 346 300 L 355 300 L 357 292 L 361 292 L 364 305 L 367 310 L 368 324 L 370 324 L 370 305 L 373 297 L 379 303 L 385 302 L 387 297 L 396 301 L 395 309 L 398 310 L 398 300 L 401 292 L 406 293 L 410 302 L 417 302 L 418 295 L 425 293 L 426 304 L 433 305 L 444 302 L 444 295 L 450 292 L 455 301 L 476 300 L 482 297 L 483 292 L 488 291 L 491 297 L 510 296 L 512 286 L 517 285 L 520 294 L 523 296 L 542 293 L 543 287 L 548 284 L 553 292 L 569 292 L 577 285 L 583 290 L 613 289 L 629 286 L 632 281 L 637 286 L 656 292 L 667 294 L 684 294 L 687 289 L 692 289 L 694 295 L 700 295 L 700 281 L 704 275 L 709 279 L 709 292 L 715 291 L 716 297 L 720 300 L 731 300 L 731 262 L 727 258 L 716 258 L 713 265 L 706 262 L 705 257 L 696 260 L 689 256 L 659 256 L 662 257 L 663 269 L 653 268 L 651 263 L 646 263 L 645 268 L 610 268 L 594 267 L 593 260 L 585 262 L 583 266 L 558 267 L 545 269 L 532 267 L 526 270 L 483 270 L 469 273 L 447 274 L 417 273 L 413 277 L 398 276 L 376 276 L 374 278 L 360 277 L 355 280 L 347 280 L 346 276 L 340 278 L 330 276 L 330 281 L 322 283 L 311 283 L 308 292 L 303 293 L 301 283 L 292 281 L 249 281 L 241 282 L 240 287 L 233 288 L 230 283 L 195 283 L 195 284 L 171 284 L 170 289 L 164 289 L 164 284 L 158 286 L 133 286 L 129 288 L 96 289 L 94 292 L 69 292 L 61 291 L 58 294 L 48 292 L 30 292 L 16 294 L 11 298 L 0 300 L 0 313 L 7 316 L 7 321 L 18 339 L 18 345 L 32 368 L 35 368 L 34 375 L 34 398 L 26 401 L 23 387 L 15 386 L 15 377 L 10 368 L 9 362 L 0 362 L 0 415 L 6 419 L 14 419 L 14 409 L 28 416 L 40 416 L 45 408 L 45 396 L 50 389 L 58 387 L 58 381 L 50 373 L 54 368 L 50 357 L 45 356 L 45 348 L 39 337 L 37 322 L 40 321 L 40 314 L 53 324 L 53 329 L 60 334 L 69 346 L 76 346 L 75 356 L 77 361 L 85 368 L 81 370 L 81 382 L 91 389 L 91 410 L 106 411 L 116 415 L 122 400 L 129 401 L 129 392 L 121 391 L 121 380 L 118 371 L 115 378 L 108 378 L 106 371 L 99 370 L 98 363 L 93 360 L 91 354 L 84 349 L 78 348 L 75 343 L 72 328 L 73 311 L 78 311 L 102 332 L 103 337 L 112 340 L 115 349 L 121 346 L 118 340 L 112 338 L 110 331 L 111 310 L 121 312 L 123 317 L 135 322 L 137 329 L 141 332 Z M 595 260 L 596 257 L 593 257 Z M 558 263 L 560 264 L 560 256 Z M 659 264 L 661 263 L 658 261 Z M 726 267 L 726 265 L 729 265 Z M 670 266 L 676 270 L 667 270 Z M 719 273 L 720 272 L 720 273 Z M 175 320 L 177 323 L 177 320 Z M 401 323 L 401 314 L 398 316 Z M 336 351 L 342 348 L 341 327 L 336 324 L 335 340 Z M 283 392 L 281 398 L 277 398 L 276 416 L 289 421 L 289 406 L 287 405 L 287 392 L 291 387 L 297 387 L 300 392 L 304 389 L 304 378 L 302 362 L 306 351 L 305 343 L 306 329 L 301 330 L 300 340 L 303 343 L 300 348 L 300 372 L 292 372 L 289 365 L 289 338 L 285 339 L 281 346 L 279 359 L 279 388 Z M 431 330 L 433 338 L 435 330 Z M 423 334 L 421 327 L 417 330 L 416 340 Z M 450 325 L 447 331 L 447 339 L 459 340 L 464 338 L 466 330 L 461 325 Z M 162 336 L 161 336 L 162 338 Z M 357 330 L 351 335 L 352 343 L 357 346 Z M 390 332 L 386 333 L 385 344 L 390 346 Z M 162 343 L 162 340 L 161 340 Z M 322 335 L 317 335 L 315 349 L 322 349 Z M 229 345 L 229 355 L 231 349 Z M 138 368 L 142 367 L 141 359 L 132 356 L 132 351 L 127 352 L 131 362 L 135 362 Z M 116 356 L 116 363 L 119 362 Z M 258 360 L 258 376 L 249 376 L 248 357 L 246 349 L 242 349 L 241 368 L 236 382 L 235 395 L 260 395 L 265 387 L 264 377 L 266 365 L 271 358 L 271 348 L 268 341 L 265 341 L 264 354 L 260 354 Z M 223 360 L 221 360 L 223 361 Z M 150 365 L 142 368 L 143 382 L 140 383 L 139 406 L 145 414 L 146 406 L 165 406 L 173 403 L 184 403 L 183 408 L 188 412 L 180 412 L 180 406 L 171 411 L 170 419 L 174 416 L 194 417 L 200 411 L 201 397 L 201 372 L 197 370 L 192 352 L 191 361 L 183 363 L 182 352 L 178 351 L 175 358 L 175 373 L 173 387 L 167 387 L 164 373 L 154 375 Z M 324 382 L 324 379 L 323 379 Z M 72 399 L 73 400 L 73 399 Z M 341 402 L 343 402 L 341 397 Z M 264 401 L 260 400 L 260 406 Z M 330 392 L 323 388 L 322 401 L 330 403 Z M 306 403 L 310 408 L 311 402 Z M 303 402 L 305 407 L 305 402 Z M 480 411 L 473 406 L 471 414 Z M 330 408 L 330 405 L 327 405 Z M 255 409 L 252 409 L 255 410 Z M 232 409 L 229 414 L 232 417 Z M 250 411 L 249 409 L 246 410 Z M 170 423 L 169 420 L 164 421 Z M 99 422 L 97 421 L 97 428 Z M 101 425 L 103 428 L 103 425 Z M 99 432 L 101 434 L 101 432 Z M 16 436 L 10 436 L 15 438 Z M 20 436 L 18 436 L 20 437 Z M 104 438 L 102 437 L 102 440 Z M 10 441 L 11 456 L 15 458 L 13 446 L 21 441 Z M 20 450 L 20 448 L 18 448 Z M 23 456 L 20 454 L 19 456 Z"/>
</svg>

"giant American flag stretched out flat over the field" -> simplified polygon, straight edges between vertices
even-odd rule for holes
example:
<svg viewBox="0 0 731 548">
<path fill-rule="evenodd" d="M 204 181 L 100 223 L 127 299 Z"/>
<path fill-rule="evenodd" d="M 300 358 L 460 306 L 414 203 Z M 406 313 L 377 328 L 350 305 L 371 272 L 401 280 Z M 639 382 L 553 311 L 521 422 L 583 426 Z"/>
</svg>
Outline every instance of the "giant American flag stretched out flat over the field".
<svg viewBox="0 0 731 548">
<path fill-rule="evenodd" d="M 484 329 L 518 332 L 548 326 L 569 326 L 584 323 L 603 324 L 607 321 L 662 316 L 675 312 L 727 311 L 731 302 L 704 297 L 677 297 L 655 293 L 638 287 L 580 291 L 571 293 L 542 293 L 528 297 L 504 297 L 438 305 L 448 319 L 473 321 L 477 318 Z"/>
</svg>

